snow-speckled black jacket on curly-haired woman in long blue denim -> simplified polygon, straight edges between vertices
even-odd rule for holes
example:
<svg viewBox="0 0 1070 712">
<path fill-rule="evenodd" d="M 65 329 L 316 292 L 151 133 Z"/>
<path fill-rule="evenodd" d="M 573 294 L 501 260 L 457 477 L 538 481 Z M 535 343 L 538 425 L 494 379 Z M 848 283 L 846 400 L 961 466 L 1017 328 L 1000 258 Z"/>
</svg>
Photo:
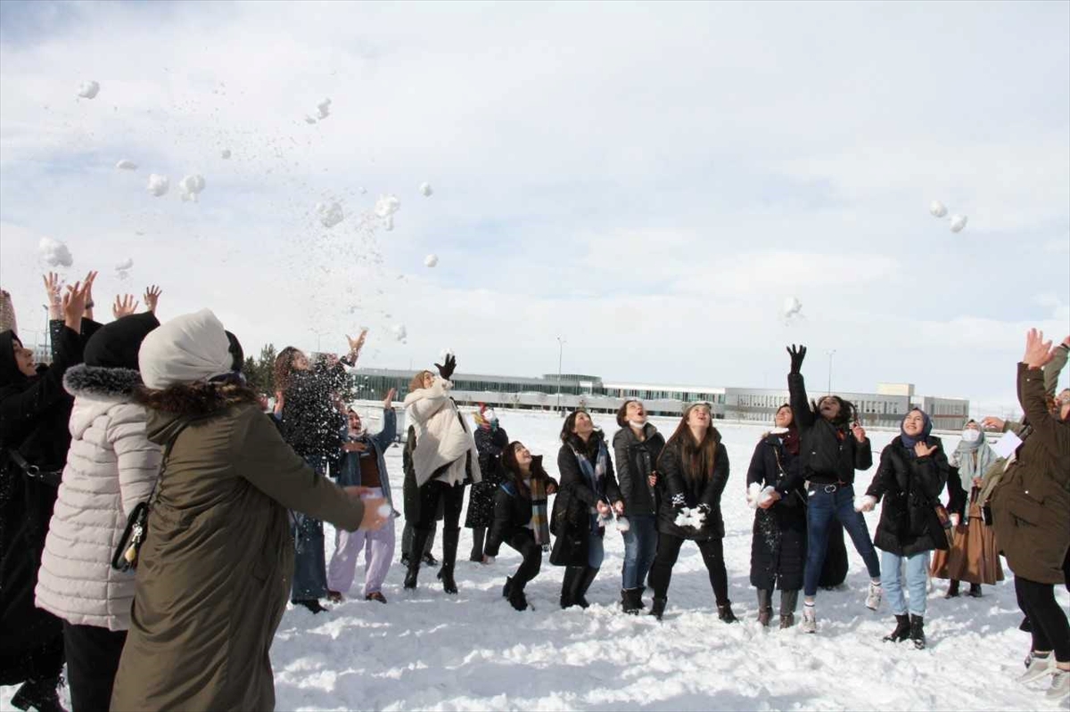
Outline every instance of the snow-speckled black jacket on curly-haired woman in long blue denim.
<svg viewBox="0 0 1070 712">
<path fill-rule="evenodd" d="M 332 466 L 341 460 L 341 431 L 346 417 L 332 393 L 346 385 L 346 369 L 316 365 L 294 371 L 282 405 L 282 439 L 302 458 L 326 458 Z"/>
</svg>

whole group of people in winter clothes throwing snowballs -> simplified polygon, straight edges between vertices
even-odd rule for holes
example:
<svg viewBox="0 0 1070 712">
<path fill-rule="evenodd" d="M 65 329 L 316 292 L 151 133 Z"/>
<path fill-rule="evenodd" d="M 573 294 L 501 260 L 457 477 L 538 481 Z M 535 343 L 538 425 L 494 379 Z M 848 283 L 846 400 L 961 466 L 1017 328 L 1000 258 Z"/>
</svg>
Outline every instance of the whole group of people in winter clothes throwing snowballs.
<svg viewBox="0 0 1070 712">
<path fill-rule="evenodd" d="M 520 554 L 502 588 L 517 610 L 547 555 L 564 568 L 561 607 L 586 608 L 615 523 L 624 613 L 646 608 L 649 586 L 661 620 L 692 541 L 718 618 L 737 620 L 721 513 L 730 462 L 707 404 L 688 404 L 668 439 L 639 400 L 622 404 L 612 442 L 587 413 L 570 413 L 554 478 L 491 408 L 470 422 L 450 398 L 447 355 L 414 375 L 402 402 L 398 511 L 384 456 L 397 439 L 394 391 L 374 434 L 340 397 L 366 334 L 340 357 L 282 350 L 268 407 L 245 384 L 238 338 L 211 311 L 162 324 L 151 288 L 146 312 L 117 297 L 114 321 L 101 325 L 94 279 L 62 289 L 46 277 L 48 367 L 33 362 L 0 304 L 11 322 L 0 325 L 0 684 L 21 685 L 17 708 L 62 709 L 65 661 L 76 711 L 272 709 L 269 650 L 287 599 L 312 613 L 341 601 L 364 552 L 364 599 L 386 603 L 395 517 L 404 517 L 404 589 L 433 561 L 441 521 L 438 581 L 458 592 L 469 485 L 469 559 L 492 563 L 503 544 Z M 1068 350 L 1070 338 L 1052 349 L 1030 332 L 1019 365 L 1024 420 L 970 420 L 950 455 L 929 415 L 912 409 L 856 496 L 856 470 L 873 464 L 869 437 L 850 402 L 808 398 L 806 347 L 789 349 L 789 403 L 747 470 L 759 622 L 770 624 L 779 589 L 780 628 L 794 625 L 801 589 L 801 628 L 816 632 L 817 589 L 845 575 L 845 531 L 870 577 L 866 605 L 887 598 L 895 616 L 885 640 L 923 648 L 930 576 L 950 581 L 949 598 L 960 582 L 980 595 L 1002 579 L 1002 553 L 1031 634 L 1022 680 L 1051 676 L 1049 696 L 1070 695 L 1070 624 L 1054 594 L 1070 586 L 1070 389 L 1054 392 Z M 1013 454 L 996 458 L 984 429 L 1014 431 Z M 871 538 L 865 513 L 878 502 Z M 323 522 L 336 531 L 330 562 Z"/>
</svg>

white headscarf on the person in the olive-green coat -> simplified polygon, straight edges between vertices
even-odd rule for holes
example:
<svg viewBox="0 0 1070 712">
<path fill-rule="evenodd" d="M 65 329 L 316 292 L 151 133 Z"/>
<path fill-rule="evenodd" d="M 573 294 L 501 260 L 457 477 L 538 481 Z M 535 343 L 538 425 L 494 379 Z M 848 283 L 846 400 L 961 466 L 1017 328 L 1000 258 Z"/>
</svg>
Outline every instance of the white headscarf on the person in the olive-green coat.
<svg viewBox="0 0 1070 712">
<path fill-rule="evenodd" d="M 175 316 L 141 342 L 138 363 L 149 388 L 208 381 L 230 373 L 230 342 L 211 309 Z"/>
</svg>

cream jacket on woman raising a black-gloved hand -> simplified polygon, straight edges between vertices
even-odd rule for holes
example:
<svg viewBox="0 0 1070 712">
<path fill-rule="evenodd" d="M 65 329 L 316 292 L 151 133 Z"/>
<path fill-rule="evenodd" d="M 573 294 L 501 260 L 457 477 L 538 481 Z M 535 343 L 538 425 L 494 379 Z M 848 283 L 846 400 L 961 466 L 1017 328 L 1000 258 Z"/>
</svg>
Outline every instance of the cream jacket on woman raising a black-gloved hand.
<svg viewBox="0 0 1070 712">
<path fill-rule="evenodd" d="M 434 376 L 434 384 L 430 388 L 419 388 L 404 397 L 406 417 L 416 432 L 412 464 L 416 471 L 416 483 L 421 486 L 437 469 L 450 464 L 455 467 L 449 468 L 452 477 L 447 479 L 459 482 L 468 471 L 469 462 L 472 481 L 483 480 L 475 439 L 468 423 L 460 417 L 454 400 L 449 398 L 453 386 L 452 382 L 442 376 Z"/>
</svg>

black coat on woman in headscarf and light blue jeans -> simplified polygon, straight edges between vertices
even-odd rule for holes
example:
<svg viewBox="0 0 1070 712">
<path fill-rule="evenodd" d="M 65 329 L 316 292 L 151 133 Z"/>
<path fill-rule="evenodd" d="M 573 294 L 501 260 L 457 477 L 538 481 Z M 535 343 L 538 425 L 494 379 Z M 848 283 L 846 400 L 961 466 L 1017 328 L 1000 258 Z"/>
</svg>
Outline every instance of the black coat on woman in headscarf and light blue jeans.
<svg viewBox="0 0 1070 712">
<path fill-rule="evenodd" d="M 910 556 L 934 548 L 947 550 L 947 537 L 936 516 L 937 497 L 947 483 L 947 455 L 938 437 L 926 438 L 936 451 L 915 458 L 896 436 L 881 453 L 881 465 L 866 494 L 883 497 L 881 522 L 873 545 L 897 556 Z"/>
</svg>

